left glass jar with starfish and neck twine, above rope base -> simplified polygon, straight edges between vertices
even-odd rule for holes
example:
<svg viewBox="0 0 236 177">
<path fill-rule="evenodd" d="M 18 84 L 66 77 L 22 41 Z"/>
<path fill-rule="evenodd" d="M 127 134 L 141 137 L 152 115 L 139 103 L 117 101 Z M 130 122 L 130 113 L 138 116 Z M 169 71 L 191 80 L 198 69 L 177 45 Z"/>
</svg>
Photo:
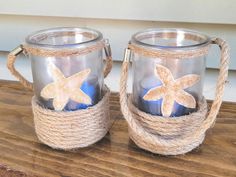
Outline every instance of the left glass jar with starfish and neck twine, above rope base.
<svg viewBox="0 0 236 177">
<path fill-rule="evenodd" d="M 26 37 L 22 51 L 31 59 L 34 94 L 43 107 L 60 111 L 85 109 L 99 102 L 104 83 L 103 48 L 107 40 L 88 28 L 53 28 Z M 11 67 L 11 66 L 10 66 Z M 21 75 L 22 83 L 32 84 Z"/>
</svg>

